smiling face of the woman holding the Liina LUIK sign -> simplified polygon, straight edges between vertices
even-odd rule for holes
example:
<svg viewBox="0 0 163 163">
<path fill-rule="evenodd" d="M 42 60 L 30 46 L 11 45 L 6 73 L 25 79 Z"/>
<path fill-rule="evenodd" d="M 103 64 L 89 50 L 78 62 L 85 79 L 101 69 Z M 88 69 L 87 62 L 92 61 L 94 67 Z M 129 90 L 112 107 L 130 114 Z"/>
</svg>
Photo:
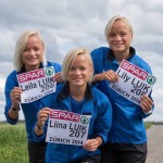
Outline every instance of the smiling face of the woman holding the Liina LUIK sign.
<svg viewBox="0 0 163 163">
<path fill-rule="evenodd" d="M 67 73 L 70 86 L 86 88 L 91 73 L 92 66 L 90 65 L 86 54 L 77 55 Z"/>
</svg>

